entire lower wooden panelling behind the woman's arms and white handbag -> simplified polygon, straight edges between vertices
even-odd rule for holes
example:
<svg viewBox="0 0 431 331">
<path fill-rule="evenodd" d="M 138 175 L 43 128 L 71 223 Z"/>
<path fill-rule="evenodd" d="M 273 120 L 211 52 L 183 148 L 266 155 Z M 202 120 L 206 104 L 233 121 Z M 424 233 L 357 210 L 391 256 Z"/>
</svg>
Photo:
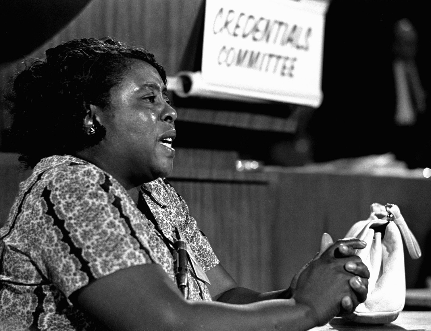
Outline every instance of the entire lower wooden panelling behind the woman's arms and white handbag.
<svg viewBox="0 0 431 331">
<path fill-rule="evenodd" d="M 201 151 L 194 161 L 190 151 L 179 152 L 169 181 L 241 286 L 257 291 L 286 288 L 318 251 L 323 232 L 334 240 L 343 238 L 353 223 L 368 217 L 373 202 L 398 204 L 422 250 L 429 250 L 429 179 L 298 168 L 238 173 L 231 163 L 234 155 L 208 153 Z M 18 172 L 16 158 L 0 153 L 0 225 L 19 181 L 28 176 Z M 422 265 L 429 264 L 426 258 L 412 260 L 405 253 L 407 287 L 417 285 Z"/>
</svg>

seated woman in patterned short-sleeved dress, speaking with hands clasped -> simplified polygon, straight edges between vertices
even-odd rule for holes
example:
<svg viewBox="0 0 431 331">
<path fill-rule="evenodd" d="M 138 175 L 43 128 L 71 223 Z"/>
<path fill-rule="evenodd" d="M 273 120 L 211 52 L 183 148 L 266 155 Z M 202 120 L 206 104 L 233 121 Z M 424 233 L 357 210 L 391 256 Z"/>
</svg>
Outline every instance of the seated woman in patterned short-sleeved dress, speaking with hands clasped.
<svg viewBox="0 0 431 331">
<path fill-rule="evenodd" d="M 239 288 L 163 179 L 177 113 L 154 56 L 110 39 L 46 55 L 10 98 L 34 170 L 0 230 L 0 329 L 306 330 L 365 300 L 365 244 L 325 236 L 287 290 Z"/>
</svg>

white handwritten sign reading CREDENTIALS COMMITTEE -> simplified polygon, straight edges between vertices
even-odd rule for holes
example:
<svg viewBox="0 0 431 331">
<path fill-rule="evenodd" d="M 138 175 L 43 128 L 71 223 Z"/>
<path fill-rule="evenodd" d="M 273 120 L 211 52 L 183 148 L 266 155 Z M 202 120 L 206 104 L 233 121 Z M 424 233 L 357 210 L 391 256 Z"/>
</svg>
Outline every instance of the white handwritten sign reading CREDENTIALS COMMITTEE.
<svg viewBox="0 0 431 331">
<path fill-rule="evenodd" d="M 220 92 L 319 106 L 327 7 L 325 0 L 206 0 L 203 80 Z"/>
</svg>

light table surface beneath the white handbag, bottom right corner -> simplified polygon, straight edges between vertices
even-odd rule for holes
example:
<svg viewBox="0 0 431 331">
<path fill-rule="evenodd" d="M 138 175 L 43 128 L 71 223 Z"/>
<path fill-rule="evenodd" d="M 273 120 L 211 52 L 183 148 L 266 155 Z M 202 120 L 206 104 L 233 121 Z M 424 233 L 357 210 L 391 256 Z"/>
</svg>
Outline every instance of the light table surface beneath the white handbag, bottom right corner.
<svg viewBox="0 0 431 331">
<path fill-rule="evenodd" d="M 312 328 L 311 331 L 431 331 L 431 311 L 402 311 L 398 318 L 389 324 L 372 325 L 347 322 L 342 319 L 332 319 L 326 325 Z"/>
</svg>

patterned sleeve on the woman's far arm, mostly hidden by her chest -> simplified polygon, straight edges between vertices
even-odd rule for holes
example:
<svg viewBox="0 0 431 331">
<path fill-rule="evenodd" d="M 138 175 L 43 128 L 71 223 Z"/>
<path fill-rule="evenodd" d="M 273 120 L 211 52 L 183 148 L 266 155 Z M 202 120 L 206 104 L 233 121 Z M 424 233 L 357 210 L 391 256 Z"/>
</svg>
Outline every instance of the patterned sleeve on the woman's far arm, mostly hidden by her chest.
<svg viewBox="0 0 431 331">
<path fill-rule="evenodd" d="M 188 206 L 182 197 L 179 197 L 181 207 L 186 214 L 185 224 L 183 225 L 183 233 L 187 238 L 187 243 L 193 251 L 196 260 L 202 266 L 204 272 L 219 264 L 219 259 L 212 250 L 208 238 L 203 234 L 197 226 L 196 220 L 190 216 Z"/>
</svg>

